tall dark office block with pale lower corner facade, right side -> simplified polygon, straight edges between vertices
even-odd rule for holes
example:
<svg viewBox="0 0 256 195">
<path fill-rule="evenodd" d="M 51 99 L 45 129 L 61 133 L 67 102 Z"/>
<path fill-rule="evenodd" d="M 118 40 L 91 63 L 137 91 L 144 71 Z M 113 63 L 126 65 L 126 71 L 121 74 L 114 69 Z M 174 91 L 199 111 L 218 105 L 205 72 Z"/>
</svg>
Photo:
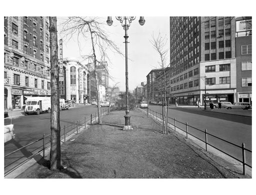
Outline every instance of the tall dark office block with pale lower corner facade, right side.
<svg viewBox="0 0 256 195">
<path fill-rule="evenodd" d="M 170 17 L 170 77 L 171 103 L 236 101 L 235 18 Z"/>
</svg>

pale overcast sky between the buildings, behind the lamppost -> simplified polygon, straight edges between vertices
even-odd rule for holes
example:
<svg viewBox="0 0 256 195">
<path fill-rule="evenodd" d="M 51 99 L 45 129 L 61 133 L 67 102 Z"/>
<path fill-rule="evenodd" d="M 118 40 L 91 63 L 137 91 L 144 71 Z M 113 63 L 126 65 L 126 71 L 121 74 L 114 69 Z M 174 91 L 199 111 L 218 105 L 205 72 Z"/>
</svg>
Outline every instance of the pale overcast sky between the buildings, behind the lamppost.
<svg viewBox="0 0 256 195">
<path fill-rule="evenodd" d="M 95 15 L 96 16 L 96 15 Z M 131 25 L 127 31 L 128 34 L 128 82 L 129 90 L 133 90 L 141 82 L 146 81 L 146 75 L 153 68 L 159 68 L 158 65 L 159 55 L 149 42 L 152 39 L 152 34 L 155 36 L 160 34 L 166 36 L 169 40 L 169 17 L 144 17 L 145 24 L 139 25 L 139 16 L 131 22 Z M 102 21 L 107 19 L 107 16 L 100 17 Z M 113 24 L 111 26 L 102 26 L 108 33 L 109 38 L 115 42 L 120 48 L 121 52 L 125 54 L 124 42 L 124 29 L 121 23 L 112 16 Z M 64 20 L 63 17 L 58 17 L 58 32 L 61 30 L 61 23 Z M 58 38 L 63 37 L 63 34 L 58 34 Z M 89 40 L 89 39 L 88 39 Z M 72 37 L 69 41 L 63 41 L 63 58 L 73 58 L 82 61 L 80 54 L 89 54 L 91 49 L 90 42 L 83 39 L 79 40 L 81 44 L 80 50 L 77 44 L 76 36 Z M 169 47 L 169 42 L 166 43 L 166 48 Z M 169 53 L 168 53 L 169 56 Z M 118 83 L 120 90 L 125 90 L 125 58 L 123 56 L 114 54 L 108 51 L 108 70 L 109 70 L 109 85 L 113 86 Z M 167 59 L 169 63 L 169 57 Z M 83 61 L 82 63 L 85 63 Z"/>
</svg>

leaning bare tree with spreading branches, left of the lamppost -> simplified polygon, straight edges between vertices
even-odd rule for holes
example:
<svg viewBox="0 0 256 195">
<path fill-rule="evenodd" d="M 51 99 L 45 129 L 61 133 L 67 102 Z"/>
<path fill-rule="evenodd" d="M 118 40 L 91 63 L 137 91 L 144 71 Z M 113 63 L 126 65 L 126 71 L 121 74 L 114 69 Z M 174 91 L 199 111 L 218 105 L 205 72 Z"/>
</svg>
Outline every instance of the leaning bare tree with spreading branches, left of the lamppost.
<svg viewBox="0 0 256 195">
<path fill-rule="evenodd" d="M 102 124 L 102 116 L 99 107 L 99 88 L 98 88 L 98 76 L 97 76 L 97 64 L 100 64 L 105 59 L 108 59 L 107 49 L 112 52 L 116 52 L 120 55 L 123 55 L 119 48 L 115 45 L 113 41 L 111 41 L 108 37 L 108 34 L 104 31 L 103 25 L 106 25 L 99 21 L 99 18 L 93 17 L 68 17 L 63 22 L 63 28 L 61 33 L 65 33 L 67 38 L 71 38 L 73 35 L 77 36 L 77 40 L 80 37 L 90 39 L 91 42 L 91 52 L 88 55 L 82 55 L 83 58 L 92 58 L 94 65 L 94 76 L 96 83 L 96 99 L 97 99 L 97 114 L 98 114 L 98 124 Z M 80 48 L 80 44 L 78 41 L 78 46 Z M 97 58 L 96 53 L 99 55 L 100 60 Z M 110 61 L 110 60 L 109 60 Z"/>
</svg>

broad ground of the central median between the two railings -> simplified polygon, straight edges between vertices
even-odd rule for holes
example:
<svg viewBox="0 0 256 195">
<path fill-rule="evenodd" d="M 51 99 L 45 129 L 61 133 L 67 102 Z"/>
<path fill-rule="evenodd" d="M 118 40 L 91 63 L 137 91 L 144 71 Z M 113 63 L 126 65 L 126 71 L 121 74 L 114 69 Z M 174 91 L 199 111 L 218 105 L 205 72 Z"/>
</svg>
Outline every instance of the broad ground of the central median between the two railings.
<svg viewBox="0 0 256 195">
<path fill-rule="evenodd" d="M 130 115 L 132 131 L 122 130 L 124 111 L 113 111 L 62 144 L 60 172 L 45 159 L 17 178 L 246 178 L 179 134 L 162 134 L 144 113 Z"/>
</svg>

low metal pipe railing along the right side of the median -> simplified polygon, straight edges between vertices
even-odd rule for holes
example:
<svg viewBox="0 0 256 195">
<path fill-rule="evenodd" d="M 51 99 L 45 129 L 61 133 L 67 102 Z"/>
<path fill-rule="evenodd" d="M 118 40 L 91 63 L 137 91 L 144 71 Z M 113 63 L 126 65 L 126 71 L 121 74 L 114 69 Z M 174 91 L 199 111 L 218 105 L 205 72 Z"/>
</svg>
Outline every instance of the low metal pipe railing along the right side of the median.
<svg viewBox="0 0 256 195">
<path fill-rule="evenodd" d="M 143 112 L 147 113 L 147 109 L 141 109 Z M 151 109 L 148 109 L 148 114 L 151 115 L 151 117 L 153 119 L 156 119 L 157 121 L 160 120 L 160 122 L 162 122 L 162 118 L 164 119 L 164 117 L 162 117 L 162 114 L 161 113 L 157 113 Z M 167 117 L 167 126 L 171 129 L 173 129 L 174 131 L 176 131 L 177 129 L 184 132 L 185 133 L 185 137 L 187 139 L 187 136 L 190 135 L 194 138 L 196 138 L 197 140 L 200 140 L 201 142 L 203 142 L 205 144 L 205 151 L 207 151 L 207 146 L 211 146 L 212 148 L 222 152 L 223 154 L 235 159 L 236 161 L 242 163 L 242 170 L 243 170 L 243 175 L 246 175 L 246 166 L 249 167 L 249 168 L 252 168 L 251 165 L 247 164 L 246 163 L 246 159 L 245 159 L 245 153 L 248 152 L 250 154 L 250 156 L 252 155 L 252 151 L 251 150 L 248 150 L 245 148 L 245 144 L 242 143 L 241 146 L 238 146 L 234 143 L 231 143 L 229 141 L 226 141 L 222 138 L 219 138 L 215 135 L 212 135 L 210 133 L 207 132 L 207 129 L 204 129 L 203 130 L 200 130 L 196 127 L 192 127 L 190 125 L 187 124 L 187 122 L 183 123 L 181 121 L 178 121 L 176 120 L 176 118 L 171 118 L 171 117 Z M 170 122 L 171 121 L 171 122 Z M 196 132 L 196 133 L 195 133 Z M 199 134 L 198 134 L 199 133 Z M 195 135 L 196 134 L 196 135 Z M 229 144 L 231 146 L 234 146 L 236 147 L 237 149 L 240 149 L 241 150 L 241 159 L 238 159 L 236 157 L 234 157 L 233 155 L 231 154 L 228 154 L 227 152 L 221 150 L 219 147 L 217 146 L 214 146 L 213 144 L 209 143 L 209 138 L 214 138 L 218 141 L 221 141 L 222 144 Z M 230 147 L 230 146 L 229 146 Z"/>
</svg>

